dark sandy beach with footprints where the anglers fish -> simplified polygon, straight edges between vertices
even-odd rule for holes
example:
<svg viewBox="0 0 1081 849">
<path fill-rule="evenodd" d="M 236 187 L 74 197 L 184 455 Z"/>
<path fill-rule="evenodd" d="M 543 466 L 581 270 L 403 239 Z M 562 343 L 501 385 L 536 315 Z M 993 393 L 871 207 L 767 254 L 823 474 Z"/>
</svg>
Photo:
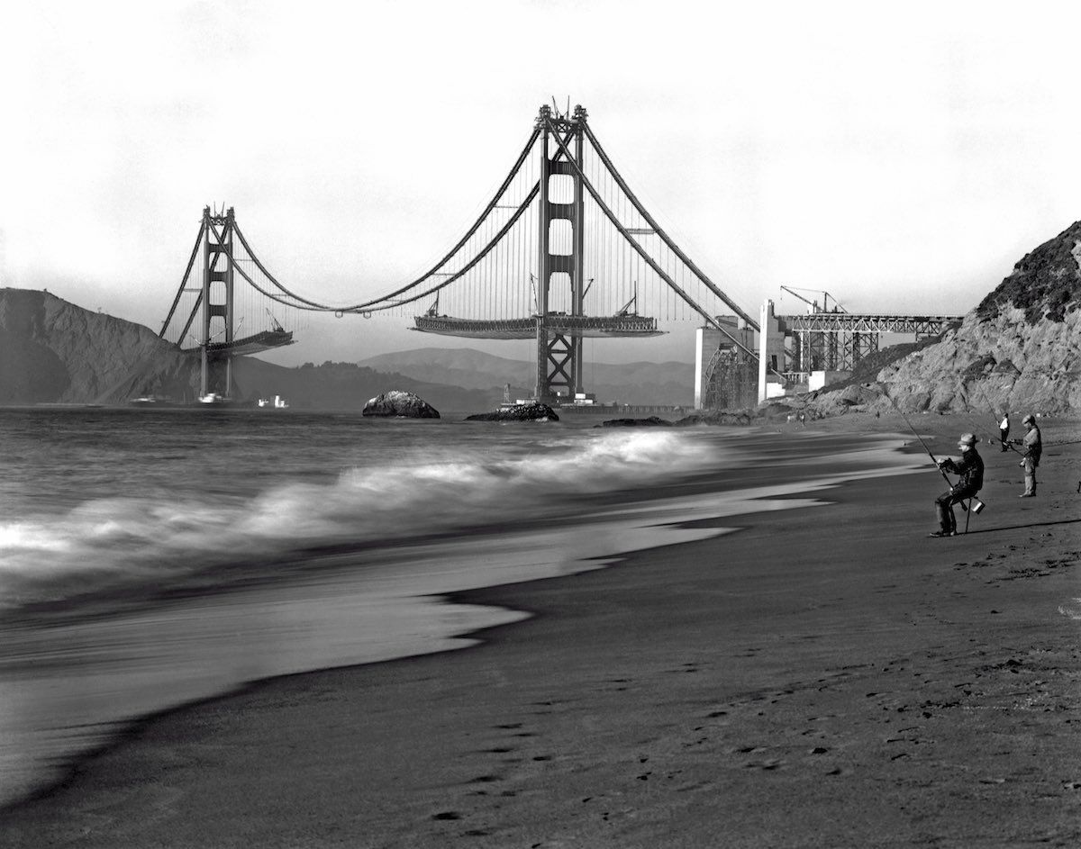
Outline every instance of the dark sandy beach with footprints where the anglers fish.
<svg viewBox="0 0 1081 849">
<path fill-rule="evenodd" d="M 973 427 L 913 423 L 943 454 Z M 463 593 L 534 616 L 148 719 L 0 811 L 0 845 L 1081 845 L 1081 426 L 1043 439 L 1035 499 L 1015 454 L 978 446 L 988 507 L 956 538 L 926 536 L 927 459 L 724 536 Z"/>
</svg>

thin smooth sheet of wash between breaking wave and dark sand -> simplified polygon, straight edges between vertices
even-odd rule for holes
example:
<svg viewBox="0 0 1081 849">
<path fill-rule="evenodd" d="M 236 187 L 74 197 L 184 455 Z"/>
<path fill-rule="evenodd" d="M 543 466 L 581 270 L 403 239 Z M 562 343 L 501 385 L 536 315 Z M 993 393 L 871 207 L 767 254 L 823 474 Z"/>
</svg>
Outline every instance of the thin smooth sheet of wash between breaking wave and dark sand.
<svg viewBox="0 0 1081 849">
<path fill-rule="evenodd" d="M 88 753 L 106 751 L 147 717 L 261 680 L 468 647 L 477 642 L 472 632 L 529 616 L 455 603 L 454 594 L 604 568 L 629 553 L 729 531 L 707 529 L 700 520 L 716 525 L 820 504 L 818 494 L 839 482 L 909 471 L 893 436 L 851 448 L 815 436 L 810 456 L 803 440 L 739 436 L 752 446 L 744 446 L 723 480 L 699 473 L 648 493 L 605 493 L 558 520 L 519 521 L 477 535 L 398 540 L 390 549 L 330 547 L 288 577 L 268 567 L 272 581 L 240 571 L 239 585 L 202 589 L 204 579 L 192 576 L 195 584 L 174 585 L 157 603 L 107 594 L 75 614 L 65 602 L 37 621 L 32 614 L 14 618 L 0 630 L 13 662 L 6 680 L 0 677 L 0 686 L 11 688 L 0 714 L 0 737 L 6 737 L 0 807 L 48 793 L 68 772 L 64 762 L 78 765 Z M 827 448 L 837 467 L 829 473 L 815 462 Z M 787 480 L 776 475 L 776 483 L 750 487 L 763 450 Z M 795 466 L 789 455 L 798 458 Z M 302 631 L 283 631 L 278 620 L 285 610 Z M 135 669 L 129 644 L 145 658 Z M 266 645 L 277 649 L 267 655 Z M 41 657 L 50 659 L 51 672 L 19 674 L 27 659 Z"/>
</svg>

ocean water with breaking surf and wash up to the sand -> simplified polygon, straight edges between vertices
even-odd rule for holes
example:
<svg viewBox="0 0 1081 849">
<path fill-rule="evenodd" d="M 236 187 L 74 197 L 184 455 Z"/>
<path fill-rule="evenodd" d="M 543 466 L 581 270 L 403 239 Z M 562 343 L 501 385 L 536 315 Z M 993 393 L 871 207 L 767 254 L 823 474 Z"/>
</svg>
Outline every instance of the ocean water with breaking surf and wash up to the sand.
<svg viewBox="0 0 1081 849">
<path fill-rule="evenodd" d="M 138 717 L 525 616 L 448 593 L 911 466 L 883 436 L 595 421 L 0 408 L 0 804 Z"/>
</svg>

